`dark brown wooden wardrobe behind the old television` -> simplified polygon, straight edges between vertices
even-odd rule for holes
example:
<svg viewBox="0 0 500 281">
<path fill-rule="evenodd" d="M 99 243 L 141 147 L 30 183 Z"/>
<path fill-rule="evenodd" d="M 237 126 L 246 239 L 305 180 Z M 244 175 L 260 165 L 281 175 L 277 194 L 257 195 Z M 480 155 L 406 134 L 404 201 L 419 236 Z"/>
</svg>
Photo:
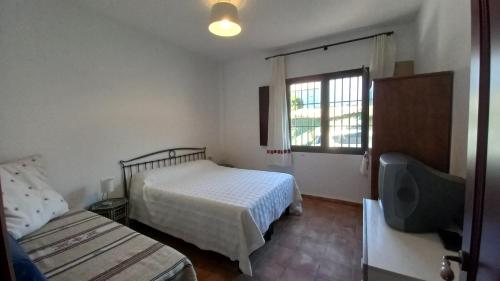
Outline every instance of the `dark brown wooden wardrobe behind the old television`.
<svg viewBox="0 0 500 281">
<path fill-rule="evenodd" d="M 401 152 L 449 172 L 453 73 L 376 79 L 373 86 L 372 199 L 383 153 Z"/>
</svg>

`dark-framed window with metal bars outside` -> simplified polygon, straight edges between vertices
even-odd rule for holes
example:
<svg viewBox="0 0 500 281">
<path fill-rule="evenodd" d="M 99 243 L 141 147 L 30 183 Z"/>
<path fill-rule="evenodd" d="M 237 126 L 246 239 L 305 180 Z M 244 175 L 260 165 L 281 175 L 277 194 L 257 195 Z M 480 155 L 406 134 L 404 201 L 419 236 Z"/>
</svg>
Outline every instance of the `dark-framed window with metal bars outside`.
<svg viewBox="0 0 500 281">
<path fill-rule="evenodd" d="M 292 150 L 362 154 L 367 81 L 366 68 L 288 79 Z"/>
</svg>

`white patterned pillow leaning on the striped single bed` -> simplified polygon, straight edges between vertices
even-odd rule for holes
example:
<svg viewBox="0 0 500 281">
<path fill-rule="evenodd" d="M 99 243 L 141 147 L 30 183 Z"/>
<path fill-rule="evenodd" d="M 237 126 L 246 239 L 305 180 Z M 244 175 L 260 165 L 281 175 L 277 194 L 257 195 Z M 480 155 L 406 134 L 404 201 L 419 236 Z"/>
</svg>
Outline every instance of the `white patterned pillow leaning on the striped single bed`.
<svg viewBox="0 0 500 281">
<path fill-rule="evenodd" d="M 0 164 L 8 232 L 16 239 L 68 211 L 68 203 L 48 184 L 39 155 Z"/>
</svg>

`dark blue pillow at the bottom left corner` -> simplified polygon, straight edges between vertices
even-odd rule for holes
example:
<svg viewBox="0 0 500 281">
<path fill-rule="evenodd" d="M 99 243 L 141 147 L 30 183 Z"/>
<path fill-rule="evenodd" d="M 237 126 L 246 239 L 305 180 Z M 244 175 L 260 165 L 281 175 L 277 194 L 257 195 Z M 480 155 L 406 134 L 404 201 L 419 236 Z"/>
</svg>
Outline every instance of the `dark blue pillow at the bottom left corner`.
<svg viewBox="0 0 500 281">
<path fill-rule="evenodd" d="M 8 236 L 7 244 L 16 280 L 46 281 L 45 276 L 38 270 L 16 239 L 11 235 Z"/>
</svg>

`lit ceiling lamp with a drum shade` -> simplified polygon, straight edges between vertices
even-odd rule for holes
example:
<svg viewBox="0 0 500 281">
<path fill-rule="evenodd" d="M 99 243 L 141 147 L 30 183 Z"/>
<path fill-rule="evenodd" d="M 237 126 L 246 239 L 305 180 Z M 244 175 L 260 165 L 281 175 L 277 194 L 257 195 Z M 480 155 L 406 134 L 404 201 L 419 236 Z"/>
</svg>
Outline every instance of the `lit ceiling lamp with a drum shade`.
<svg viewBox="0 0 500 281">
<path fill-rule="evenodd" d="M 241 32 L 238 9 L 229 2 L 218 2 L 212 6 L 208 30 L 215 35 L 231 37 Z"/>
</svg>

